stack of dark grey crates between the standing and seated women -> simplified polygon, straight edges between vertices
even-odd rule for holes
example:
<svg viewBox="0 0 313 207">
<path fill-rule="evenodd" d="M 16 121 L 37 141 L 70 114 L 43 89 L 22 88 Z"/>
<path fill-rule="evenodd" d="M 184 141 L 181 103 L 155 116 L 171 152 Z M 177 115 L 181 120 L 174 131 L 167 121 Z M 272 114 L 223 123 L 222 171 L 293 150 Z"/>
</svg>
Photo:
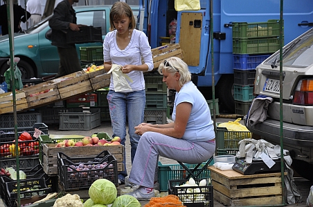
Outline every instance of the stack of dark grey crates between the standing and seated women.
<svg viewBox="0 0 313 207">
<path fill-rule="evenodd" d="M 145 78 L 145 117 L 144 122 L 166 124 L 168 89 L 163 76 L 147 73 Z"/>
</svg>

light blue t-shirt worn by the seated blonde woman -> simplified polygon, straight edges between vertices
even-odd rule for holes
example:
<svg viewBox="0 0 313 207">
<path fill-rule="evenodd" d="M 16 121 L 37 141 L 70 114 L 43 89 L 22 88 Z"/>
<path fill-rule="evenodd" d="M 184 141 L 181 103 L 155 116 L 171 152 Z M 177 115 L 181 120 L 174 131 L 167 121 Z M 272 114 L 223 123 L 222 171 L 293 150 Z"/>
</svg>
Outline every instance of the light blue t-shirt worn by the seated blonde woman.
<svg viewBox="0 0 313 207">
<path fill-rule="evenodd" d="M 193 108 L 191 109 L 186 131 L 182 139 L 187 139 L 188 141 L 208 141 L 214 139 L 215 132 L 208 103 L 206 103 L 206 99 L 192 81 L 186 83 L 175 95 L 172 112 L 173 121 L 176 119 L 176 106 L 183 102 L 193 104 Z"/>
</svg>

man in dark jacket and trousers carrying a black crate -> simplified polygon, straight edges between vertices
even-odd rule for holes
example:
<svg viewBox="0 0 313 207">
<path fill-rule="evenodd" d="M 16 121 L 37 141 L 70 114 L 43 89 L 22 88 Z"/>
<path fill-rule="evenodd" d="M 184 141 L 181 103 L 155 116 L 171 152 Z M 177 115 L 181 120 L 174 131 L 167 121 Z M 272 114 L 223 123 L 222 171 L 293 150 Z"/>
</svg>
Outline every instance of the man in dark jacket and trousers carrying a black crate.
<svg viewBox="0 0 313 207">
<path fill-rule="evenodd" d="M 57 46 L 60 57 L 59 72 L 55 77 L 62 77 L 82 70 L 75 43 L 66 43 L 66 33 L 69 30 L 79 31 L 76 24 L 76 14 L 72 5 L 79 0 L 64 0 L 57 4 L 53 17 L 49 20 L 51 44 Z"/>
</svg>

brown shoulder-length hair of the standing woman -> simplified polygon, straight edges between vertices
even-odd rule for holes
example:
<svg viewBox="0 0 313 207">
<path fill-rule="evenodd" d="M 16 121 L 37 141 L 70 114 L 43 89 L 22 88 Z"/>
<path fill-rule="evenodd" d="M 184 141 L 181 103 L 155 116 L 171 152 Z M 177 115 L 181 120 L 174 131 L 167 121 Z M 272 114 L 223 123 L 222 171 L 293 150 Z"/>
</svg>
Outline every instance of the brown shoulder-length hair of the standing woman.
<svg viewBox="0 0 313 207">
<path fill-rule="evenodd" d="M 132 8 L 130 8 L 130 6 L 125 2 L 116 1 L 116 3 L 114 3 L 111 7 L 109 17 L 110 17 L 110 29 L 109 29 L 110 31 L 115 30 L 113 21 L 123 19 L 123 17 L 129 17 L 131 21 L 128 26 L 129 29 L 134 30 L 134 28 L 136 27 L 136 21 L 134 14 L 132 12 Z"/>
</svg>

